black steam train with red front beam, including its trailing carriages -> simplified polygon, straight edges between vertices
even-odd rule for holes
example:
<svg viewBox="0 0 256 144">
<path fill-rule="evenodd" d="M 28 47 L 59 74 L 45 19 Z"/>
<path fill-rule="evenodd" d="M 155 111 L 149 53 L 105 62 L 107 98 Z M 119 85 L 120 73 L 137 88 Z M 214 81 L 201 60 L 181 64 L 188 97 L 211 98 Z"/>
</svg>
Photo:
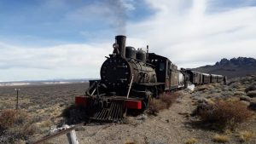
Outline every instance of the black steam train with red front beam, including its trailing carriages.
<svg viewBox="0 0 256 144">
<path fill-rule="evenodd" d="M 101 79 L 90 80 L 85 95 L 75 97 L 91 119 L 119 120 L 125 110 L 145 110 L 153 97 L 188 84 L 210 84 L 226 77 L 189 69 L 177 70 L 168 58 L 126 46 L 125 36 L 116 36 L 113 54 L 101 67 Z"/>
</svg>

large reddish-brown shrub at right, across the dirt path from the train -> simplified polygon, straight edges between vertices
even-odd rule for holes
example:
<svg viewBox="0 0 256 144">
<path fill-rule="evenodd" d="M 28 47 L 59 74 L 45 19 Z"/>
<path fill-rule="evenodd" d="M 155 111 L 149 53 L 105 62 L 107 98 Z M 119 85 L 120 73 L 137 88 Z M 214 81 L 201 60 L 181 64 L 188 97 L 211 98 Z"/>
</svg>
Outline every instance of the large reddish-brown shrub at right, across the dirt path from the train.
<svg viewBox="0 0 256 144">
<path fill-rule="evenodd" d="M 233 129 L 236 124 L 250 118 L 252 113 L 241 101 L 216 101 L 212 108 L 202 110 L 199 115 L 204 122 L 216 124 L 222 129 Z"/>
</svg>

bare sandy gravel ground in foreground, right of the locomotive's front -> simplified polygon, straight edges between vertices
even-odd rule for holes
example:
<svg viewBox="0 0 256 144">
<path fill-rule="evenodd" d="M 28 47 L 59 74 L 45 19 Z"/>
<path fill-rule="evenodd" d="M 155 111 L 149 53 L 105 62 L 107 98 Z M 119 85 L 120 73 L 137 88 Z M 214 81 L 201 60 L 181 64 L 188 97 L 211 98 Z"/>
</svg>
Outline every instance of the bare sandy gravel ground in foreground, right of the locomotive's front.
<svg viewBox="0 0 256 144">
<path fill-rule="evenodd" d="M 195 138 L 196 143 L 215 143 L 214 135 L 228 135 L 227 143 L 241 143 L 238 135 L 241 130 L 256 131 L 256 119 L 247 124 L 241 124 L 234 132 L 207 130 L 206 127 L 192 123 L 196 118 L 190 117 L 195 109 L 188 92 L 181 92 L 181 97 L 168 110 L 163 110 L 158 116 L 146 114 L 127 118 L 127 124 L 89 124 L 76 132 L 81 144 L 181 144 Z M 67 143 L 67 137 L 61 136 L 52 143 Z M 218 143 L 218 142 L 216 142 Z M 245 143 L 256 143 L 253 138 Z"/>
</svg>

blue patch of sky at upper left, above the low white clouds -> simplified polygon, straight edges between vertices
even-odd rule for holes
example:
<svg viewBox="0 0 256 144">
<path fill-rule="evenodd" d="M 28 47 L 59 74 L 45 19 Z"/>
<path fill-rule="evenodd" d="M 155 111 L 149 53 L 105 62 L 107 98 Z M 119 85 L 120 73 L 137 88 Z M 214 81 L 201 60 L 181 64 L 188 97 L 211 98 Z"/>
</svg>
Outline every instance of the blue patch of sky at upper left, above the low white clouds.
<svg viewBox="0 0 256 144">
<path fill-rule="evenodd" d="M 115 12 L 110 11 L 114 8 L 111 6 L 113 2 L 110 1 L 114 2 L 114 0 L 2 0 L 0 2 L 1 38 L 10 40 L 11 43 L 47 45 L 87 43 L 102 38 L 102 34 L 105 37 L 113 36 L 117 31 L 113 20 L 119 19 L 119 16 L 112 15 Z M 129 0 L 125 3 L 128 4 Z M 132 1 L 132 4 L 136 5 L 136 9 L 133 6 L 128 9 L 119 8 L 125 10 L 124 15 L 120 15 L 126 17 L 122 18 L 125 22 L 140 21 L 153 14 L 143 1 Z M 100 34 L 96 35 L 96 33 Z"/>
</svg>

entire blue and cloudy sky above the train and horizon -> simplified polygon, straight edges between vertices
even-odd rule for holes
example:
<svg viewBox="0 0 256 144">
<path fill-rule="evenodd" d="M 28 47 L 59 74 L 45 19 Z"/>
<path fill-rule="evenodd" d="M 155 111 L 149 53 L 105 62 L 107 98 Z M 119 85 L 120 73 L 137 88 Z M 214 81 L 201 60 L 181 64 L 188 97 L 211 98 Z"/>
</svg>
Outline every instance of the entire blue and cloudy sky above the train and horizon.
<svg viewBox="0 0 256 144">
<path fill-rule="evenodd" d="M 0 0 L 0 82 L 100 78 L 116 35 L 178 67 L 256 58 L 256 0 Z"/>
</svg>

